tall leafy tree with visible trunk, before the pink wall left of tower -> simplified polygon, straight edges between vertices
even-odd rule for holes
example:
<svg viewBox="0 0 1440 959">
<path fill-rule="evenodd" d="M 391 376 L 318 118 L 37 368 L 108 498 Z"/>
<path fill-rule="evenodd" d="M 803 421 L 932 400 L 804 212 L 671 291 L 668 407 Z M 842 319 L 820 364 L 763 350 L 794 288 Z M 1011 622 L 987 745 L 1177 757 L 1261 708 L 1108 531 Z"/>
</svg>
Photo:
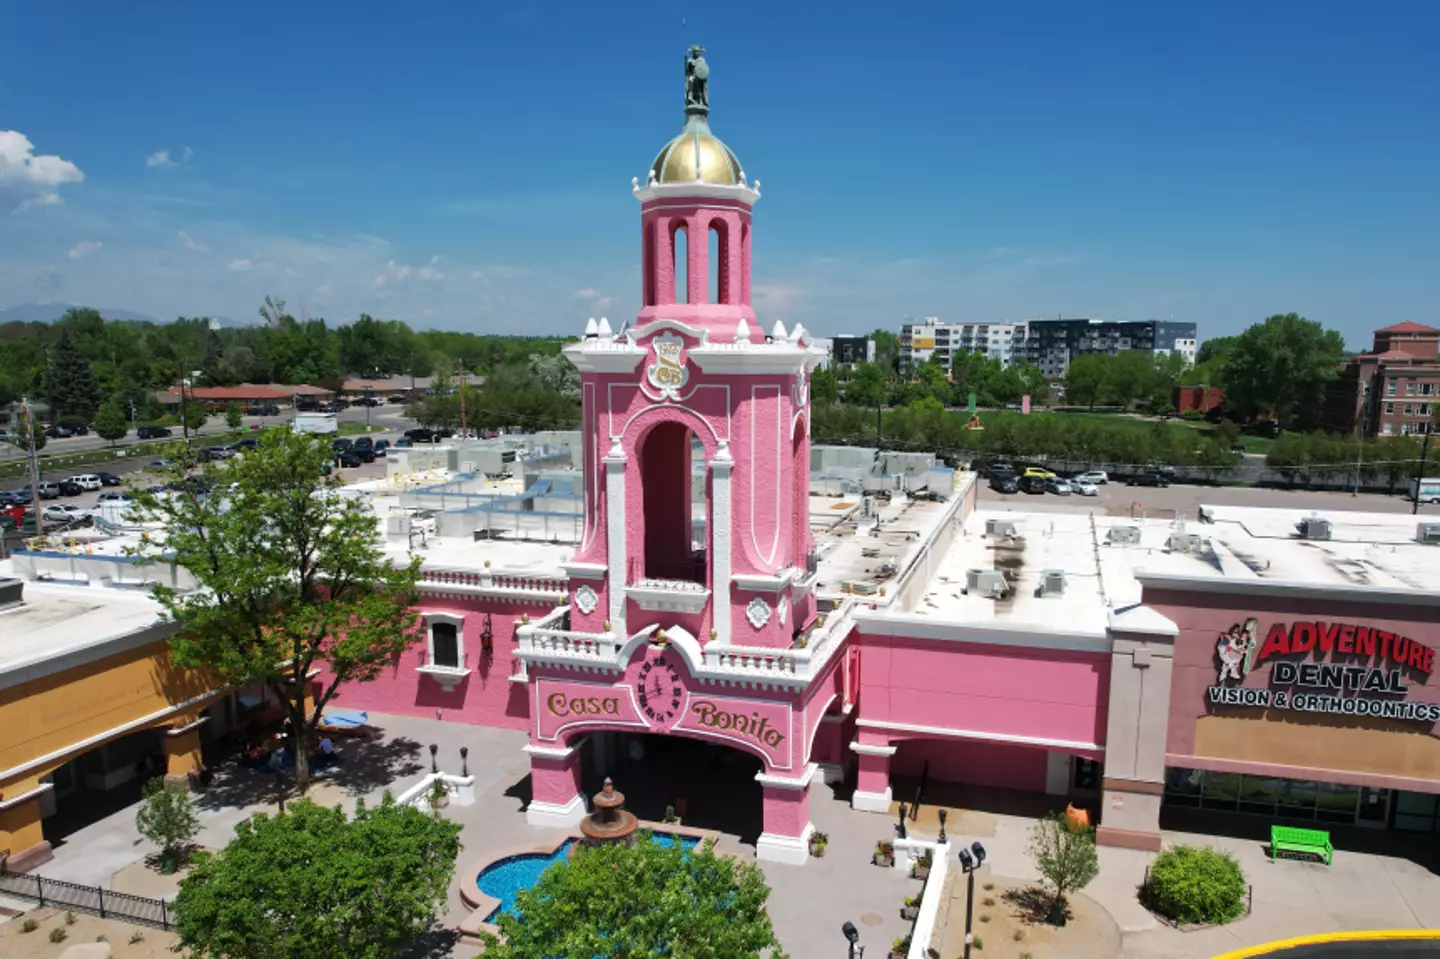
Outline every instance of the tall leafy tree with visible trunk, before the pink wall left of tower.
<svg viewBox="0 0 1440 959">
<path fill-rule="evenodd" d="M 181 448 L 167 480 L 183 492 L 135 494 L 141 515 L 167 531 L 141 554 L 163 550 L 200 586 L 154 590 L 179 623 L 176 664 L 226 687 L 269 687 L 297 734 L 301 789 L 315 726 L 340 687 L 374 680 L 416 638 L 420 560 L 392 564 L 370 508 L 321 474 L 328 459 L 324 439 L 269 431 L 248 455 L 220 462 L 197 464 Z M 196 467 L 212 495 L 196 494 Z M 291 680 L 321 665 L 327 678 L 307 711 L 308 683 Z"/>
</svg>

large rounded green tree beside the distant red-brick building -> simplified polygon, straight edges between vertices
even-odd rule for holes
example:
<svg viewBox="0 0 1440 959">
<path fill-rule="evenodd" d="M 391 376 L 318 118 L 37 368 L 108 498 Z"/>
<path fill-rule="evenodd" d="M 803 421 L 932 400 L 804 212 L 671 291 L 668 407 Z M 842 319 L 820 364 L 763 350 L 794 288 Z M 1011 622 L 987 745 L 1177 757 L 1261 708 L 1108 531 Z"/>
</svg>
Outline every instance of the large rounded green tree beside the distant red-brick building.
<svg viewBox="0 0 1440 959">
<path fill-rule="evenodd" d="M 1269 317 L 1241 333 L 1225 356 L 1225 405 L 1247 419 L 1273 413 L 1290 423 L 1320 405 L 1344 353 L 1335 330 L 1295 312 Z"/>
</svg>

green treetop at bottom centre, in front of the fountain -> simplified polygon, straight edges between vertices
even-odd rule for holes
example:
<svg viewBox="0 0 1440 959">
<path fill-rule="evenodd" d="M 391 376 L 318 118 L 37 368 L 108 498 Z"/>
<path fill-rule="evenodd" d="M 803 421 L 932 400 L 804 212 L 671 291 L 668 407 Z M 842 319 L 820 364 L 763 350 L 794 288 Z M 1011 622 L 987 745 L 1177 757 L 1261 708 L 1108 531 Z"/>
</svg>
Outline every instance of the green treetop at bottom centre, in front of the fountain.
<svg viewBox="0 0 1440 959">
<path fill-rule="evenodd" d="M 648 834 L 634 845 L 580 847 L 520 893 L 498 919 L 505 942 L 488 937 L 487 959 L 552 956 L 685 956 L 783 959 L 765 903 L 770 888 L 755 863 L 688 854 Z"/>
</svg>

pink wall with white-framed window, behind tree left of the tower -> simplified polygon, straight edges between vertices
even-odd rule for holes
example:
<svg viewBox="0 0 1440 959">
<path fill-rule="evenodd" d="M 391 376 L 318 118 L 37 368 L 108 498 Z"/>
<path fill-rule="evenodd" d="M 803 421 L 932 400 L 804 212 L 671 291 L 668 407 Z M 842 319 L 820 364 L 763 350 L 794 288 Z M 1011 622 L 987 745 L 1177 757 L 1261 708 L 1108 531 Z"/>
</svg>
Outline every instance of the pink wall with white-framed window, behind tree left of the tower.
<svg viewBox="0 0 1440 959">
<path fill-rule="evenodd" d="M 441 612 L 465 618 L 461 636 L 469 675 L 454 690 L 445 691 L 435 677 L 416 671 L 416 667 L 425 664 L 422 618 L 410 648 L 373 683 L 351 683 L 341 687 L 336 707 L 426 719 L 439 716 L 455 723 L 526 729 L 530 721 L 526 687 L 510 681 L 511 670 L 516 668 L 516 628 L 520 625 L 521 613 L 528 612 L 531 618 L 539 618 L 550 608 L 546 603 L 517 605 L 480 598 L 442 600 L 422 596 L 416 611 L 422 615 Z M 480 647 L 487 612 L 494 639 L 494 657 L 488 661 L 481 657 Z M 321 674 L 321 681 L 328 683 L 328 677 Z"/>
</svg>

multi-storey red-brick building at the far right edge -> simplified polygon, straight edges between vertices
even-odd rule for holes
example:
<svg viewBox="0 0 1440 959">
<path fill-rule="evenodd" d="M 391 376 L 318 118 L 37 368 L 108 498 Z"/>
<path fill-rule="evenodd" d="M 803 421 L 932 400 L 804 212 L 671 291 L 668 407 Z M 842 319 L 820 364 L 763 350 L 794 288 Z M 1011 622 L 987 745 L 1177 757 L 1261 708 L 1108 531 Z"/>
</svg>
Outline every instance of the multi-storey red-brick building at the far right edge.
<svg viewBox="0 0 1440 959">
<path fill-rule="evenodd" d="M 1351 357 L 1326 389 L 1333 432 L 1410 436 L 1431 431 L 1440 403 L 1440 330 L 1397 323 L 1375 330 L 1369 353 Z"/>
</svg>

